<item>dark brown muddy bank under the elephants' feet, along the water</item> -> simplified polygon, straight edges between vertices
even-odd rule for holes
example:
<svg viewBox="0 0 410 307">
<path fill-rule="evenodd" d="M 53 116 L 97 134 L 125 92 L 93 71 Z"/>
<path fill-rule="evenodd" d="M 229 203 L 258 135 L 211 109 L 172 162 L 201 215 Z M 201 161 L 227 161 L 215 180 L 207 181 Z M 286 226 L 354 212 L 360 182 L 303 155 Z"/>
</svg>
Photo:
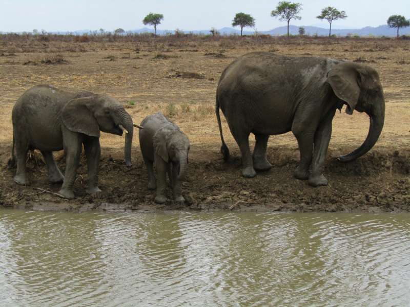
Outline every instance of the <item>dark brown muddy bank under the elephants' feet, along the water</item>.
<svg viewBox="0 0 410 307">
<path fill-rule="evenodd" d="M 241 174 L 241 159 L 233 154 L 223 162 L 217 146 L 191 150 L 182 195 L 186 201 L 166 204 L 154 202 L 155 191 L 147 189 L 148 175 L 139 152 L 133 152 L 133 165 L 125 165 L 121 149 L 103 148 L 99 188 L 86 194 L 86 160 L 81 159 L 74 192 L 75 200 L 56 193 L 60 184 L 48 182 L 47 168 L 41 155 L 31 153 L 27 168 L 31 186 L 13 182 L 16 169 L 7 167 L 11 143 L 0 144 L 0 206 L 35 210 L 232 210 L 241 211 L 410 211 L 410 150 L 375 147 L 353 162 L 337 161 L 339 152 L 329 150 L 325 176 L 329 186 L 313 188 L 307 181 L 293 177 L 299 151 L 268 148 L 273 168 L 259 172 L 253 179 Z M 353 148 L 351 148 L 353 149 Z M 347 150 L 347 149 L 345 149 Z M 57 157 L 61 171 L 64 156 Z M 43 190 L 40 190 L 43 189 Z M 171 199 L 171 189 L 168 189 Z M 238 201 L 240 201 L 238 203 Z"/>
</svg>

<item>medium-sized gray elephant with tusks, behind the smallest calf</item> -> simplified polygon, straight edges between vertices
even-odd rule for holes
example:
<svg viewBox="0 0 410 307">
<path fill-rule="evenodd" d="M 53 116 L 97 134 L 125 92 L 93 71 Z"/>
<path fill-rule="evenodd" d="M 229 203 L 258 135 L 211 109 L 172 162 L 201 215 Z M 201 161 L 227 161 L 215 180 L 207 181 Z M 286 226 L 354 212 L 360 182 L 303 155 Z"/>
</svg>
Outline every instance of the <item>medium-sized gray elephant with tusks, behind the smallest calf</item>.
<svg viewBox="0 0 410 307">
<path fill-rule="evenodd" d="M 32 87 L 15 103 L 12 111 L 13 149 L 9 166 L 15 164 L 14 181 L 29 185 L 26 171 L 28 150 L 38 149 L 46 161 L 49 180 L 63 182 L 58 191 L 73 199 L 73 186 L 81 154 L 81 144 L 87 157 L 88 194 L 99 192 L 100 131 L 121 136 L 126 132 L 125 160 L 131 165 L 133 122 L 122 104 L 113 97 L 88 91 L 67 93 L 48 84 Z M 66 154 L 65 177 L 58 169 L 53 151 Z"/>
</svg>

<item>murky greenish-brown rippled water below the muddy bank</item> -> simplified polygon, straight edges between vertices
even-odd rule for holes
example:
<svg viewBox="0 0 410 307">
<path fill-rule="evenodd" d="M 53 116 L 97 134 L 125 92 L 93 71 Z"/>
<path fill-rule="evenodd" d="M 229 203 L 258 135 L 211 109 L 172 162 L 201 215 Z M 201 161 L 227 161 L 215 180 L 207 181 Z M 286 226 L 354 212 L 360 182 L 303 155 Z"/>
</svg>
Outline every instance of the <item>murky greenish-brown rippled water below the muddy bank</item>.
<svg viewBox="0 0 410 307">
<path fill-rule="evenodd" d="M 2 306 L 403 306 L 410 214 L 0 210 Z"/>
</svg>

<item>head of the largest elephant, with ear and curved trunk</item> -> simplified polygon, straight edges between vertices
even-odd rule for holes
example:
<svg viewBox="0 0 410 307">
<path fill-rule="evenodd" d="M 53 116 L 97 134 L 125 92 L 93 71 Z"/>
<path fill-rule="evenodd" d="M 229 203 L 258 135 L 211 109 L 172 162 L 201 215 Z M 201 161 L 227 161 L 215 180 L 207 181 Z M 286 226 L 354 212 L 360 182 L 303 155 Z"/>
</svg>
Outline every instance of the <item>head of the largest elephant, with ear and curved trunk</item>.
<svg viewBox="0 0 410 307">
<path fill-rule="evenodd" d="M 379 74 L 367 65 L 350 61 L 335 65 L 326 80 L 336 96 L 345 102 L 346 113 L 352 115 L 353 110 L 365 112 L 370 116 L 370 127 L 366 140 L 357 149 L 339 160 L 352 161 L 369 151 L 379 139 L 384 125 L 384 95 Z"/>
</svg>

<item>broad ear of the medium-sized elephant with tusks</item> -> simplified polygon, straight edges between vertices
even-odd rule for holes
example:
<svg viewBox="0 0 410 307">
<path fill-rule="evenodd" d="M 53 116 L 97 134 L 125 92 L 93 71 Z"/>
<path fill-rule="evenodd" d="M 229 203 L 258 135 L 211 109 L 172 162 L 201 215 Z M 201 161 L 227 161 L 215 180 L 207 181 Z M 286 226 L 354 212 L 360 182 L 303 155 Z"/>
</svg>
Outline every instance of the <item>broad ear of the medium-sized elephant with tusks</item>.
<svg viewBox="0 0 410 307">
<path fill-rule="evenodd" d="M 99 126 L 91 110 L 94 100 L 94 97 L 70 100 L 61 110 L 64 125 L 71 131 L 99 138 Z"/>
</svg>

